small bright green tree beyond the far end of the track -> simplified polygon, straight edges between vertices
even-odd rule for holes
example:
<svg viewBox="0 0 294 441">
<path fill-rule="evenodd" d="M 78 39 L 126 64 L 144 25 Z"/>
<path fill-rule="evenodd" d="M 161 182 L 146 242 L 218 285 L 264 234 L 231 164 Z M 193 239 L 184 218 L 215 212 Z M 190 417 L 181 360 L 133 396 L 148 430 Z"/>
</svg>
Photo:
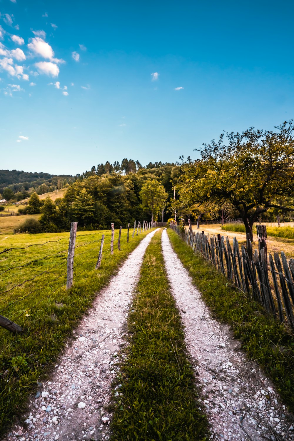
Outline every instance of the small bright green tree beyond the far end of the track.
<svg viewBox="0 0 294 441">
<path fill-rule="evenodd" d="M 139 196 L 142 205 L 149 209 L 151 220 L 153 222 L 167 200 L 167 193 L 164 190 L 164 186 L 156 179 L 148 179 L 142 186 Z"/>
</svg>

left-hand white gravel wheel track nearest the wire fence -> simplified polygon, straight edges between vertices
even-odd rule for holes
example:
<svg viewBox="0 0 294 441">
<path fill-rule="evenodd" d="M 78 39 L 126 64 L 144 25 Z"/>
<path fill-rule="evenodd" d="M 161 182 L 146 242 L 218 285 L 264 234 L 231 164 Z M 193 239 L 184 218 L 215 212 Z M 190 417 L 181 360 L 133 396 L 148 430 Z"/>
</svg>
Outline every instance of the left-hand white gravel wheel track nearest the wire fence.
<svg viewBox="0 0 294 441">
<path fill-rule="evenodd" d="M 40 390 L 30 400 L 25 422 L 14 427 L 5 441 L 107 439 L 111 419 L 107 406 L 117 375 L 115 362 L 123 343 L 123 325 L 154 233 L 142 239 L 97 296 L 74 331 L 76 338 L 66 345 L 52 378 L 40 383 Z"/>
</svg>

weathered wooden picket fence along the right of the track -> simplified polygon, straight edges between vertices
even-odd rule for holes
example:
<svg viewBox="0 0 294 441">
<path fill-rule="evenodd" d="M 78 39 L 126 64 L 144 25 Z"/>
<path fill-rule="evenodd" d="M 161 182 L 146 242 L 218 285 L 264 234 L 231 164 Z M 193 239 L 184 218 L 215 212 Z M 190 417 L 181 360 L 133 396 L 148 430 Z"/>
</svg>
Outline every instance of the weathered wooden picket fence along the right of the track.
<svg viewBox="0 0 294 441">
<path fill-rule="evenodd" d="M 274 258 L 269 254 L 268 264 L 265 226 L 262 226 L 265 237 L 257 231 L 260 239 L 259 251 L 255 250 L 254 253 L 249 237 L 246 247 L 242 245 L 240 252 L 236 238 L 232 249 L 227 236 L 225 238 L 218 234 L 209 237 L 209 234 L 191 229 L 182 232 L 175 224 L 170 227 L 240 291 L 249 294 L 252 299 L 261 303 L 268 314 L 294 329 L 294 259 L 287 262 L 282 251 L 281 258 L 278 253 L 274 253 Z"/>
</svg>

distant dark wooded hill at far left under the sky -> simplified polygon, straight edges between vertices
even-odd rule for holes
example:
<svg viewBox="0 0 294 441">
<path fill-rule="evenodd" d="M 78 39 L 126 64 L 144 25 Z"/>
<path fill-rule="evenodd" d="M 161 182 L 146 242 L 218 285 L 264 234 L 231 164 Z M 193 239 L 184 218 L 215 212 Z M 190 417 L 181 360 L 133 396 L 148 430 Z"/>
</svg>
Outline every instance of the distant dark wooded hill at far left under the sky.
<svg viewBox="0 0 294 441">
<path fill-rule="evenodd" d="M 31 191 L 44 194 L 74 182 L 72 175 L 54 175 L 23 170 L 0 170 L 0 194 L 7 200 L 21 201 Z"/>
</svg>

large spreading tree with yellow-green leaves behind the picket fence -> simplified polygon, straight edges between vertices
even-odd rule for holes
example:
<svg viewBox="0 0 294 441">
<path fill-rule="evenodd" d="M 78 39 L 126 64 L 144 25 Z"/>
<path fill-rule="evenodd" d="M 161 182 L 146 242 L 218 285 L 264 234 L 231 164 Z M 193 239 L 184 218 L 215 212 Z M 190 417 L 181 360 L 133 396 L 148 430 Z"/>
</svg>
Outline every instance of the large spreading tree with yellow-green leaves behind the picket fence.
<svg viewBox="0 0 294 441">
<path fill-rule="evenodd" d="M 201 159 L 183 162 L 180 197 L 190 205 L 230 202 L 253 239 L 253 223 L 270 208 L 294 211 L 294 124 L 275 131 L 224 134 L 200 150 Z"/>
</svg>

